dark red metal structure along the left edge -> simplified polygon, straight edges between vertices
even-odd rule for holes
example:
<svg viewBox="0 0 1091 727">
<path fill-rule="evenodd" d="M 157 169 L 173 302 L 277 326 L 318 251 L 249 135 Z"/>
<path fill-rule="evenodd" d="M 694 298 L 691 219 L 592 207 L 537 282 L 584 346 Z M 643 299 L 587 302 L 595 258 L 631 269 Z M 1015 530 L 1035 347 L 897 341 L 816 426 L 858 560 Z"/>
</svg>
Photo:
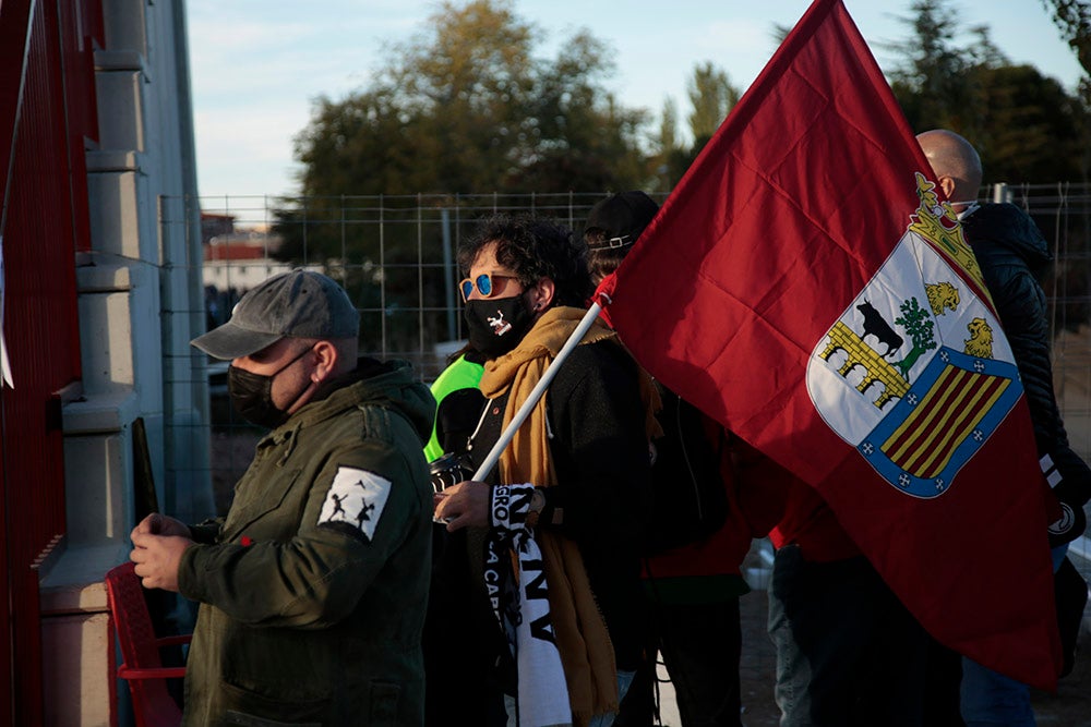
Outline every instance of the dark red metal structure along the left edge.
<svg viewBox="0 0 1091 727">
<path fill-rule="evenodd" d="M 3 335 L 0 723 L 43 724 L 37 566 L 63 545 L 61 398 L 79 381 L 75 259 L 89 249 L 98 0 L 0 0 Z"/>
</svg>

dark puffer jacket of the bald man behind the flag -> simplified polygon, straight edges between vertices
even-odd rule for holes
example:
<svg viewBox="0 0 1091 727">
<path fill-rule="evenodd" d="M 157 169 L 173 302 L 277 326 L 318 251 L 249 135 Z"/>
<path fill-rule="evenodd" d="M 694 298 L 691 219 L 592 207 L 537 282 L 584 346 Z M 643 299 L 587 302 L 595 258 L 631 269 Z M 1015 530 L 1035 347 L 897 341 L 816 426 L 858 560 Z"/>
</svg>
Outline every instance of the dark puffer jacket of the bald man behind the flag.
<svg viewBox="0 0 1091 727">
<path fill-rule="evenodd" d="M 1012 204 L 986 204 L 962 218 L 962 230 L 981 265 L 1030 405 L 1039 456 L 1050 455 L 1063 481 L 1058 499 L 1082 505 L 1091 497 L 1091 470 L 1072 451 L 1053 391 L 1050 316 L 1039 280 L 1052 260 L 1034 220 Z"/>
</svg>

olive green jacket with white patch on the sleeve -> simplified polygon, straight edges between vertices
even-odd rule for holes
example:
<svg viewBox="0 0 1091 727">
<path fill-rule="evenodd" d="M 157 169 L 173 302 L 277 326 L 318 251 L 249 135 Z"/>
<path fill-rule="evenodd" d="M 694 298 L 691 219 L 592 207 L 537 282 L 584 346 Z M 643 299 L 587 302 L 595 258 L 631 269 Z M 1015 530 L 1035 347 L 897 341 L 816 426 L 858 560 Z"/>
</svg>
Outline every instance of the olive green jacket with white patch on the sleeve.
<svg viewBox="0 0 1091 727">
<path fill-rule="evenodd" d="M 434 411 L 408 364 L 361 360 L 257 444 L 179 569 L 185 725 L 423 724 Z"/>
</svg>

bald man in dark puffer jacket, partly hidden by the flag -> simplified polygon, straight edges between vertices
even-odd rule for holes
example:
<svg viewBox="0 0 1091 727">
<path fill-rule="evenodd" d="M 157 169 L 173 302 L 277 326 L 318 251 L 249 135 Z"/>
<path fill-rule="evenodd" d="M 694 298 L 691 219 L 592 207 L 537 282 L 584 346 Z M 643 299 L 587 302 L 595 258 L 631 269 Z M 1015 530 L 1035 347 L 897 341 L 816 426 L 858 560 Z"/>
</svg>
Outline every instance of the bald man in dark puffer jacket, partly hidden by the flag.
<svg viewBox="0 0 1091 727">
<path fill-rule="evenodd" d="M 1050 526 L 1057 570 L 1068 543 L 1086 528 L 1083 504 L 1091 497 L 1091 469 L 1068 444 L 1053 391 L 1050 319 L 1045 292 L 1039 284 L 1052 257 L 1038 226 L 1022 209 L 1009 203 L 975 201 L 982 180 L 981 158 L 968 141 L 945 129 L 926 131 L 916 140 L 932 165 L 936 184 L 959 216 L 1011 344 L 1027 391 L 1042 468 L 1064 512 Z M 1070 669 L 1069 645 L 1065 646 L 1066 668 Z M 961 712 L 968 727 L 1035 724 L 1026 684 L 969 659 L 962 662 Z"/>
</svg>

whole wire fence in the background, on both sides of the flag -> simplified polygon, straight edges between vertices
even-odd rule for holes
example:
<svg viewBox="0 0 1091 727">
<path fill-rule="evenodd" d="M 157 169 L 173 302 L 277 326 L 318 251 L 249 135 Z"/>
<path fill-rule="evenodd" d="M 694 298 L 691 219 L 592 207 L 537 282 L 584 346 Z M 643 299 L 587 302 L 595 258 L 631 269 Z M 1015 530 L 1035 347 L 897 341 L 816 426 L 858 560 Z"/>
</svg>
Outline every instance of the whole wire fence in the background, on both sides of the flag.
<svg viewBox="0 0 1091 727">
<path fill-rule="evenodd" d="M 419 194 L 411 196 L 228 196 L 200 204 L 205 256 L 192 275 L 205 283 L 209 327 L 239 296 L 292 266 L 337 279 L 361 315 L 362 351 L 410 361 L 433 379 L 464 337 L 455 251 L 476 222 L 495 211 L 532 211 L 580 229 L 603 192 Z M 1054 377 L 1072 445 L 1091 459 L 1091 185 L 995 185 L 983 199 L 1027 209 L 1052 245 L 1056 265 L 1043 281 L 1050 299 Z M 657 202 L 662 202 L 658 198 Z M 166 206 L 165 206 L 166 207 Z M 257 433 L 226 402 L 225 364 L 208 368 L 213 395 L 213 481 L 227 504 Z M 1083 570 L 1091 574 L 1086 541 Z"/>
</svg>

